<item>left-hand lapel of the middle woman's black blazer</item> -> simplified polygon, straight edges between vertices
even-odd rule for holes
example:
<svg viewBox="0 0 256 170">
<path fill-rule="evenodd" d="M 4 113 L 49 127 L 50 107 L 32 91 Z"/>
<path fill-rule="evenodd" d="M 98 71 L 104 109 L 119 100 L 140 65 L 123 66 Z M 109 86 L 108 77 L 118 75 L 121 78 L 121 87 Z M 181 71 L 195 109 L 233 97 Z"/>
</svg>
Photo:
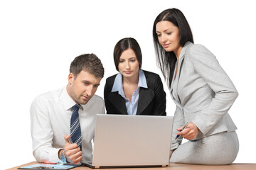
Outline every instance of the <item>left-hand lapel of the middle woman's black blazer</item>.
<svg viewBox="0 0 256 170">
<path fill-rule="evenodd" d="M 117 108 L 117 110 L 122 113 L 123 115 L 128 115 L 127 109 L 125 106 L 125 101 L 122 96 L 118 94 L 118 91 L 116 92 L 110 92 L 107 95 L 107 99 L 112 103 L 112 105 Z"/>
</svg>

